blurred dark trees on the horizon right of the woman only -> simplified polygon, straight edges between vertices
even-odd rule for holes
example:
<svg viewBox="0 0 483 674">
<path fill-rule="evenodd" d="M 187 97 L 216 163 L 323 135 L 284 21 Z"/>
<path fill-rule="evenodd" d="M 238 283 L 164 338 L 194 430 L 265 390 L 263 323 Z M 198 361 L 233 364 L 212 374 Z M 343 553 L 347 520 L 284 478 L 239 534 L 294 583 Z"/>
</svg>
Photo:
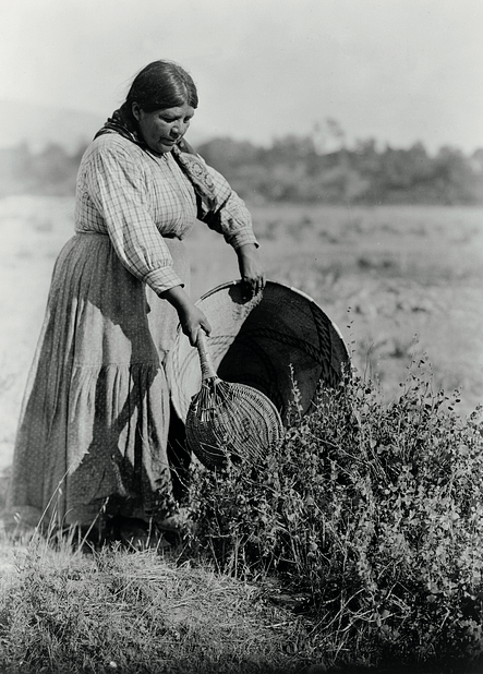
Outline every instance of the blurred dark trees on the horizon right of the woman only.
<svg viewBox="0 0 483 674">
<path fill-rule="evenodd" d="M 198 151 L 244 197 L 328 204 L 483 203 L 483 149 L 468 157 L 442 147 L 430 156 L 422 143 L 377 149 L 371 139 L 352 149 L 321 153 L 310 136 L 286 136 L 267 148 L 215 139 Z"/>
</svg>

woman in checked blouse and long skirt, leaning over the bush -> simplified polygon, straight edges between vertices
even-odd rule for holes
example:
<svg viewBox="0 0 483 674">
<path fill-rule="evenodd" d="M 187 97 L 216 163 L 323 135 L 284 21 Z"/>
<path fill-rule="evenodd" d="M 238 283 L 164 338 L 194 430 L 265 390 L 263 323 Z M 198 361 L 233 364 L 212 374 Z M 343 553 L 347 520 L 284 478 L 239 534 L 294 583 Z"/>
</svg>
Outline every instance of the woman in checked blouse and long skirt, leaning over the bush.
<svg viewBox="0 0 483 674">
<path fill-rule="evenodd" d="M 176 526 L 164 360 L 178 322 L 192 345 L 206 316 L 189 297 L 182 240 L 196 219 L 232 245 L 249 293 L 265 284 L 251 217 L 183 141 L 196 87 L 155 61 L 81 163 L 75 236 L 53 270 L 15 445 L 19 521 Z"/>
</svg>

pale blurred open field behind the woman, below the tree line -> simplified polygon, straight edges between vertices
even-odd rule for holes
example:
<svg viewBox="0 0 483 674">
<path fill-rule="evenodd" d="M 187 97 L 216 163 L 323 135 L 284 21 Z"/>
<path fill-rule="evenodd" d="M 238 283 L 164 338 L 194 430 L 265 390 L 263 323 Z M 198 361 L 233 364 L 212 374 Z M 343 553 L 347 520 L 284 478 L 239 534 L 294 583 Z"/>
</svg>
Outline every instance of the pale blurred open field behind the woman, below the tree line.
<svg viewBox="0 0 483 674">
<path fill-rule="evenodd" d="M 310 294 L 388 401 L 423 353 L 435 388 L 483 400 L 483 209 L 251 205 L 267 276 Z M 0 201 L 0 469 L 12 458 L 28 369 L 71 198 Z M 237 278 L 236 256 L 198 224 L 188 239 L 192 296 Z"/>
</svg>

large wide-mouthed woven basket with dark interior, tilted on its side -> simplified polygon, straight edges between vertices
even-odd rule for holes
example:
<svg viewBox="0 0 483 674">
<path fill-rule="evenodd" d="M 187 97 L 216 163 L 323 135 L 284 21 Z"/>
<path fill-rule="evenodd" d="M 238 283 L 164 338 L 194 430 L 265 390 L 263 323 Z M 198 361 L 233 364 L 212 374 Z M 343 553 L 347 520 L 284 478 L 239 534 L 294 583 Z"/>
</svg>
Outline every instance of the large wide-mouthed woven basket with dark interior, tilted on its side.
<svg viewBox="0 0 483 674">
<path fill-rule="evenodd" d="M 233 281 L 207 292 L 196 304 L 213 328 L 209 352 L 218 376 L 265 394 L 286 426 L 293 383 L 302 411 L 310 412 L 317 389 L 337 387 L 350 362 L 337 326 L 294 288 L 268 281 L 262 294 L 246 301 L 241 284 Z M 197 350 L 181 329 L 167 360 L 167 376 L 174 410 L 185 422 L 202 376 Z"/>
</svg>

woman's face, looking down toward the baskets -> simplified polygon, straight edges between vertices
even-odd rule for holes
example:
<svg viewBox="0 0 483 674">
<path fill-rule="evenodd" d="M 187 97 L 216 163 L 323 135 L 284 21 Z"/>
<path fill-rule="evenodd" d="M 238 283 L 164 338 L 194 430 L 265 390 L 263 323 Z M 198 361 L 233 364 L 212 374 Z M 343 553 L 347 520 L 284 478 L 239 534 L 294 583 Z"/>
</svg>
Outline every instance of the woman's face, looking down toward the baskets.
<svg viewBox="0 0 483 674">
<path fill-rule="evenodd" d="M 137 103 L 133 103 L 132 110 L 144 142 L 156 155 L 171 152 L 186 133 L 194 115 L 194 108 L 188 103 L 154 112 L 145 112 Z"/>
</svg>

